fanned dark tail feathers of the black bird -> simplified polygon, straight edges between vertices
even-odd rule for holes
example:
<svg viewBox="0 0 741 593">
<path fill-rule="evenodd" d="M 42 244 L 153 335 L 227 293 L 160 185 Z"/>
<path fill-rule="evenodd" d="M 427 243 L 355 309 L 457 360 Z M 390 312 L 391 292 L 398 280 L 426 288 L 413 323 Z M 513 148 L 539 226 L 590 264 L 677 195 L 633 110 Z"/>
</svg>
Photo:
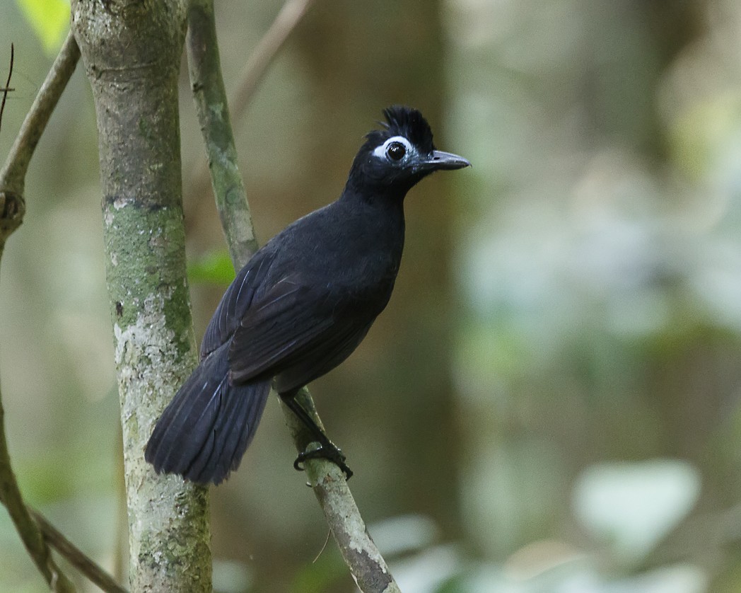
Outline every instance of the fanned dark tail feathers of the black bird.
<svg viewBox="0 0 741 593">
<path fill-rule="evenodd" d="M 202 360 L 162 412 L 144 451 L 158 474 L 218 484 L 239 466 L 265 409 L 270 380 L 232 385 L 228 348 Z"/>
</svg>

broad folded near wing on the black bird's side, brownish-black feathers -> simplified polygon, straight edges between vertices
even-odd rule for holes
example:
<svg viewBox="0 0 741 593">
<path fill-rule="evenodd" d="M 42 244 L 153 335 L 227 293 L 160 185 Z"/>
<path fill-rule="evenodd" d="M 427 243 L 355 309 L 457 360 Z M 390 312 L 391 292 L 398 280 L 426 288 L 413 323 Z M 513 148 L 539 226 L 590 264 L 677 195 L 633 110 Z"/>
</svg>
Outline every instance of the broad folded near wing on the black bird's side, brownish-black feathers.
<svg viewBox="0 0 741 593">
<path fill-rule="evenodd" d="M 342 362 L 374 318 L 362 302 L 326 285 L 282 279 L 242 317 L 229 349 L 231 377 L 288 371 L 305 385 Z"/>
</svg>

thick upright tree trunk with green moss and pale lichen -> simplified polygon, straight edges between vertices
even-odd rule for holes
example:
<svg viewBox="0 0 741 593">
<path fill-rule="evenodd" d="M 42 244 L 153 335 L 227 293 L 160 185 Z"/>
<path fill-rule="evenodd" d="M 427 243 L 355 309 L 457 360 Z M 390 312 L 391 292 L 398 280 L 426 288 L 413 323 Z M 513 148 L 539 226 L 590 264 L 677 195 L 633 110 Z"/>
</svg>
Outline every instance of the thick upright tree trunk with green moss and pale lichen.
<svg viewBox="0 0 741 593">
<path fill-rule="evenodd" d="M 182 1 L 73 3 L 99 130 L 133 592 L 211 589 L 207 490 L 144 461 L 156 418 L 196 365 L 177 95 L 185 16 Z"/>
</svg>

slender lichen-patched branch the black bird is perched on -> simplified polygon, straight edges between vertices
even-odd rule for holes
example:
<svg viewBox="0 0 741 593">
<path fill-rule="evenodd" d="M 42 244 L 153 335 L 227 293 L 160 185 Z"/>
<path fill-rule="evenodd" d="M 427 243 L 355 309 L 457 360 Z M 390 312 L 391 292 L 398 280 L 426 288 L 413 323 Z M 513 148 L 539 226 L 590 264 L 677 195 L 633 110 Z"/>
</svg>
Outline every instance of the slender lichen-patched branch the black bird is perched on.
<svg viewBox="0 0 741 593">
<path fill-rule="evenodd" d="M 288 4 L 308 4 L 289 0 Z M 285 11 L 282 10 L 283 13 Z M 271 27 L 272 28 L 272 27 Z M 190 82 L 196 100 L 206 150 L 209 158 L 213 191 L 222 219 L 230 254 L 236 268 L 241 268 L 253 254 L 256 244 L 252 220 L 247 205 L 245 185 L 236 162 L 234 139 L 229 125 L 227 100 L 219 68 L 216 29 L 213 25 L 213 1 L 193 2 L 188 20 L 187 55 L 190 64 Z M 287 31 L 282 28 L 283 31 Z M 288 34 L 287 32 L 285 33 Z M 219 119 L 214 120 L 214 113 Z M 215 127 L 216 129 L 211 129 Z M 222 179 L 231 179 L 230 184 Z M 250 236 L 250 248 L 245 248 L 244 237 Z M 321 425 L 316 408 L 307 389 L 297 396 L 306 411 Z M 286 419 L 299 451 L 311 440 L 305 428 L 292 412 L 283 406 Z M 365 529 L 342 471 L 326 460 L 308 460 L 305 463 L 310 484 L 327 517 L 333 537 L 350 574 L 364 593 L 399 592 L 399 587 Z"/>
</svg>

